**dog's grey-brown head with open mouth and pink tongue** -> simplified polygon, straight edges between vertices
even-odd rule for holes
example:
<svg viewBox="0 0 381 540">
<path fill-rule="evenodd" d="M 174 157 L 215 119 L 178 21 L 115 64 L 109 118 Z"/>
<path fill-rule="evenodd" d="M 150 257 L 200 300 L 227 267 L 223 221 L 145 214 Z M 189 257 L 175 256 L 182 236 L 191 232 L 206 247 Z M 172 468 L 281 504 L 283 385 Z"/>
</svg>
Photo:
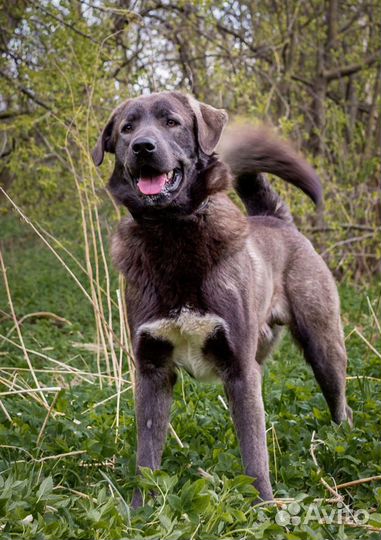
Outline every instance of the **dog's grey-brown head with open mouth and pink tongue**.
<svg viewBox="0 0 381 540">
<path fill-rule="evenodd" d="M 132 212 L 181 208 L 186 213 L 207 195 L 199 176 L 215 161 L 226 121 L 222 109 L 179 92 L 128 99 L 100 134 L 94 163 L 100 165 L 105 152 L 115 154 L 109 187 Z"/>
</svg>

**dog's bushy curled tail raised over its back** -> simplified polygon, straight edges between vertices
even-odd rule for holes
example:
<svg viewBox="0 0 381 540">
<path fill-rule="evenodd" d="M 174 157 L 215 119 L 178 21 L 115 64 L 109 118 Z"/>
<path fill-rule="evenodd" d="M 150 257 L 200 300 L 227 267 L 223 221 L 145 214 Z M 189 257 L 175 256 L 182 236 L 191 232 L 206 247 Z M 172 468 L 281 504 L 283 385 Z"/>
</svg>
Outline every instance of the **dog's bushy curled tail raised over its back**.
<svg viewBox="0 0 381 540">
<path fill-rule="evenodd" d="M 226 131 L 219 153 L 235 178 L 235 189 L 250 216 L 272 215 L 292 222 L 285 203 L 261 173 L 279 176 L 320 207 L 323 191 L 314 169 L 265 126 L 236 125 Z"/>
</svg>

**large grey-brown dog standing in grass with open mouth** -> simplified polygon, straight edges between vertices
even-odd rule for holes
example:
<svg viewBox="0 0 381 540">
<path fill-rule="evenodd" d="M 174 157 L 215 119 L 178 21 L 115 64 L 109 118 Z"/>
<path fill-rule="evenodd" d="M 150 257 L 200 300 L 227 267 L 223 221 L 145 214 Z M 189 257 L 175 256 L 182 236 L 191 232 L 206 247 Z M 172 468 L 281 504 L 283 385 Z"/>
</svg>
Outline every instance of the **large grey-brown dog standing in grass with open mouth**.
<svg viewBox="0 0 381 540">
<path fill-rule="evenodd" d="M 136 359 L 137 471 L 158 469 L 178 368 L 219 379 L 247 475 L 272 500 L 261 395 L 265 358 L 288 326 L 336 423 L 352 422 L 333 277 L 269 185 L 272 173 L 322 201 L 319 177 L 264 128 L 222 138 L 224 110 L 180 92 L 128 99 L 93 160 L 115 154 L 108 189 L 126 206 L 112 257 L 126 278 Z M 216 147 L 220 142 L 219 154 Z M 247 215 L 227 192 L 235 188 Z M 136 491 L 133 506 L 142 504 Z"/>
</svg>

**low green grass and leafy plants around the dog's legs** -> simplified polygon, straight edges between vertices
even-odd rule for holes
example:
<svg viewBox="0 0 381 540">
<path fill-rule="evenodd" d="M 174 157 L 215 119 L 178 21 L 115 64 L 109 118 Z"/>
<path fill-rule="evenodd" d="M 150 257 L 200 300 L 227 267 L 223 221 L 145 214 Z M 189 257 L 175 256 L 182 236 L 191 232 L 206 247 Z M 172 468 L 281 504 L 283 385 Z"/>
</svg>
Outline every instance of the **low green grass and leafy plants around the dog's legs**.
<svg viewBox="0 0 381 540">
<path fill-rule="evenodd" d="M 145 471 L 139 480 L 146 494 L 154 490 L 156 497 L 147 495 L 146 505 L 133 511 L 129 503 L 138 480 L 132 391 L 121 395 L 117 431 L 116 398 L 94 408 L 115 394 L 115 385 L 100 388 L 95 354 L 75 345 L 96 341 L 91 305 L 27 225 L 10 217 L 2 222 L 2 252 L 17 316 L 50 311 L 72 323 L 57 326 L 52 319 L 26 319 L 21 330 L 27 348 L 90 375 L 86 382 L 80 375 L 36 372 L 42 386 L 62 387 L 42 431 L 47 410 L 31 394 L 0 396 L 1 539 L 379 538 L 380 481 L 340 490 L 343 508 L 327 500 L 321 503 L 320 517 L 329 521 L 333 512 L 335 523 L 306 522 L 314 499 L 332 497 L 321 478 L 334 487 L 381 475 L 381 359 L 358 334 L 347 339 L 348 375 L 361 377 L 348 381 L 352 430 L 331 422 L 312 373 L 288 336 L 267 364 L 264 399 L 272 482 L 277 498 L 295 500 L 285 508 L 290 519 L 294 512 L 293 523 L 279 524 L 277 508 L 251 506 L 255 490 L 241 474 L 236 436 L 219 397 L 224 398 L 223 389 L 198 384 L 187 375 L 179 379 L 172 409 L 181 445 L 168 436 L 162 471 Z M 79 238 L 79 232 L 72 233 L 71 247 Z M 116 288 L 113 275 L 111 290 Z M 380 350 L 367 301 L 368 296 L 379 314 L 379 289 L 345 284 L 340 293 L 346 335 L 357 327 Z M 3 287 L 0 306 L 10 312 Z M 1 334 L 7 335 L 13 323 L 6 319 L 1 326 Z M 10 339 L 19 344 L 15 331 Z M 20 370 L 27 367 L 22 351 L 1 338 L 0 344 L 0 377 L 6 383 L 0 384 L 0 392 L 10 390 L 9 381 L 33 387 L 29 372 Z M 58 369 L 46 359 L 31 358 L 36 370 Z M 129 379 L 127 367 L 123 375 Z M 52 403 L 54 392 L 46 395 Z M 313 434 L 318 467 L 310 452 Z M 347 508 L 366 510 L 368 528 L 338 524 Z"/>
</svg>

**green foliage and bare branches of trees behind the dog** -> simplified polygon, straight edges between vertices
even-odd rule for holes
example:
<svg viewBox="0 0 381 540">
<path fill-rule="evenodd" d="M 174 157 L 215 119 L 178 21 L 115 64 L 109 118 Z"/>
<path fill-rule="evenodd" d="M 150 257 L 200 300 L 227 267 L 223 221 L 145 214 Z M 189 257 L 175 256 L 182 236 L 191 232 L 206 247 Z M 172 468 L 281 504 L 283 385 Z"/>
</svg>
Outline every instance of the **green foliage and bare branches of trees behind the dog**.
<svg viewBox="0 0 381 540">
<path fill-rule="evenodd" d="M 95 173 L 89 150 L 115 105 L 192 91 L 232 117 L 279 126 L 303 148 L 323 181 L 324 223 L 312 232 L 305 196 L 276 188 L 338 276 L 369 279 L 380 271 L 380 6 L 304 7 L 10 3 L 0 16 L 1 183 L 48 228 L 58 215 L 74 221 L 90 178 L 91 197 L 103 196 L 107 172 Z"/>
</svg>

